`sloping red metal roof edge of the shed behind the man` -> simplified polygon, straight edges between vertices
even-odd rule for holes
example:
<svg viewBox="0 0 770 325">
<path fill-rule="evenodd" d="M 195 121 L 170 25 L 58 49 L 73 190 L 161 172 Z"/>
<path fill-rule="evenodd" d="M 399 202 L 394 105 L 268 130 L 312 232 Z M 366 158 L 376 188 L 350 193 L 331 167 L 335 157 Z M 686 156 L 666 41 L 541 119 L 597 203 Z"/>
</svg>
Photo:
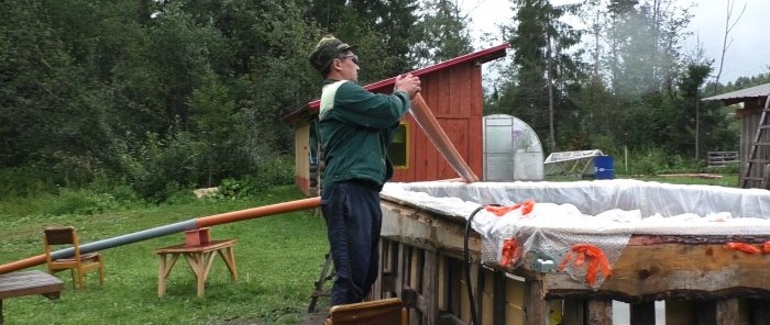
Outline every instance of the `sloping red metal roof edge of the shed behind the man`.
<svg viewBox="0 0 770 325">
<path fill-rule="evenodd" d="M 420 77 L 420 76 L 430 75 L 435 71 L 442 70 L 442 69 L 450 68 L 450 67 L 458 66 L 458 65 L 462 65 L 462 64 L 468 64 L 468 63 L 476 63 L 479 65 L 485 64 L 485 63 L 491 61 L 493 59 L 504 57 L 506 55 L 505 51 L 509 47 L 510 47 L 510 44 L 508 44 L 508 43 L 501 44 L 501 45 L 497 45 L 494 47 L 490 47 L 490 48 L 474 52 L 471 54 L 466 54 L 463 56 L 458 56 L 455 58 L 452 58 L 452 59 L 449 59 L 449 60 L 446 60 L 442 63 L 438 63 L 438 64 L 435 64 L 432 66 L 417 69 L 417 70 L 411 71 L 411 74 Z M 396 82 L 396 77 L 392 77 L 388 79 L 384 79 L 384 80 L 380 80 L 380 81 L 366 85 L 366 86 L 364 86 L 364 89 L 366 89 L 369 91 L 377 91 L 377 90 L 383 89 L 383 88 L 388 87 L 388 86 L 393 87 L 393 85 L 395 82 Z M 314 101 L 307 103 L 306 105 L 304 105 L 301 109 L 286 115 L 284 117 L 284 121 L 293 120 L 294 117 L 300 115 L 304 111 L 317 111 L 318 107 L 320 104 L 321 104 L 320 99 L 314 100 Z"/>
</svg>

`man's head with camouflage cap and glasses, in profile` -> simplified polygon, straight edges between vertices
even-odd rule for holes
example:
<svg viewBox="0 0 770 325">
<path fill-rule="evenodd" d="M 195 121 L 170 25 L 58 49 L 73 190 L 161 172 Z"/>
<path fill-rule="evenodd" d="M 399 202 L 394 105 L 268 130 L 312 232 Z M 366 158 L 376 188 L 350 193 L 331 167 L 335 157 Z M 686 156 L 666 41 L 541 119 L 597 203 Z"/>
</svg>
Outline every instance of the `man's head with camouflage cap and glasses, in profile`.
<svg viewBox="0 0 770 325">
<path fill-rule="evenodd" d="M 308 60 L 324 78 L 356 81 L 359 58 L 352 52 L 354 48 L 354 45 L 348 45 L 333 35 L 327 35 L 318 42 Z"/>
</svg>

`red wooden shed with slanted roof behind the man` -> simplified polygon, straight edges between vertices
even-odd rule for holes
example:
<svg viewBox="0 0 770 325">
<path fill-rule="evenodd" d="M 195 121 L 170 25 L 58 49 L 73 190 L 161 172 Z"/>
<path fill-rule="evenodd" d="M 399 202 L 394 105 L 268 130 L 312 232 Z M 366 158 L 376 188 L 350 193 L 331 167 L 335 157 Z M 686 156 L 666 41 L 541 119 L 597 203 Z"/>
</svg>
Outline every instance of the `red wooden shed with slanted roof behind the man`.
<svg viewBox="0 0 770 325">
<path fill-rule="evenodd" d="M 508 44 L 463 55 L 413 71 L 421 80 L 421 94 L 450 141 L 473 172 L 483 179 L 483 93 L 482 65 L 504 57 Z M 395 77 L 370 83 L 364 88 L 391 93 Z M 295 127 L 295 181 L 308 195 L 317 194 L 319 143 L 316 123 L 320 100 L 315 100 L 284 121 Z M 411 182 L 458 178 L 417 122 L 407 114 L 388 150 L 395 166 L 391 181 Z"/>
</svg>

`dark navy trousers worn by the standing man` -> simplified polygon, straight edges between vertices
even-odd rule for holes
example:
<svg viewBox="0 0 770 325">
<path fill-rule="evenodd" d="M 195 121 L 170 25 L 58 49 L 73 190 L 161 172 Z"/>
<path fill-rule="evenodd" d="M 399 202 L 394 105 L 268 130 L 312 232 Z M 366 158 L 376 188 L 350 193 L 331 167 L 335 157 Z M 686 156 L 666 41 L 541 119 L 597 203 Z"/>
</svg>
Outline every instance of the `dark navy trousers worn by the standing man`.
<svg viewBox="0 0 770 325">
<path fill-rule="evenodd" d="M 371 291 L 380 268 L 380 188 L 361 181 L 326 187 L 321 211 L 337 274 L 331 306 L 361 302 Z"/>
</svg>

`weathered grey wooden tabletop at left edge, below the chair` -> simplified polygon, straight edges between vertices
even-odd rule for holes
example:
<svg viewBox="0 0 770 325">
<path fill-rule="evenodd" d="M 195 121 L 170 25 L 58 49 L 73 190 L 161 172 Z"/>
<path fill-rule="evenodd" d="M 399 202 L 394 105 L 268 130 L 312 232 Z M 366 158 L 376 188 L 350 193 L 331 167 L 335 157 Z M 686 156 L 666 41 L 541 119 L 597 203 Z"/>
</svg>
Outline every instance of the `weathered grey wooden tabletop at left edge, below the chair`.
<svg viewBox="0 0 770 325">
<path fill-rule="evenodd" d="M 3 324 L 3 299 L 31 294 L 42 294 L 48 299 L 58 299 L 63 289 L 64 282 L 62 280 L 41 271 L 19 271 L 0 274 L 0 324 Z"/>
</svg>

